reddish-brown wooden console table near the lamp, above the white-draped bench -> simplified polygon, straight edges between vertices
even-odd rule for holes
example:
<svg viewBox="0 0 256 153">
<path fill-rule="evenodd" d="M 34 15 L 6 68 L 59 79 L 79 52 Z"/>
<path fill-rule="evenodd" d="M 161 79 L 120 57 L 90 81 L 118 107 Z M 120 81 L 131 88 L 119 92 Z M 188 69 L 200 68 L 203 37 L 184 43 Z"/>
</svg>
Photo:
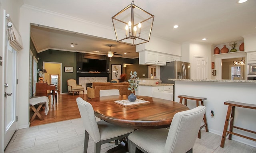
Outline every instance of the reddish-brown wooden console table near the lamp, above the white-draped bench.
<svg viewBox="0 0 256 153">
<path fill-rule="evenodd" d="M 47 96 L 47 90 L 52 90 L 55 93 L 55 85 L 47 83 L 36 83 L 36 96 Z M 52 95 L 52 105 L 54 104 L 54 94 Z"/>
</svg>

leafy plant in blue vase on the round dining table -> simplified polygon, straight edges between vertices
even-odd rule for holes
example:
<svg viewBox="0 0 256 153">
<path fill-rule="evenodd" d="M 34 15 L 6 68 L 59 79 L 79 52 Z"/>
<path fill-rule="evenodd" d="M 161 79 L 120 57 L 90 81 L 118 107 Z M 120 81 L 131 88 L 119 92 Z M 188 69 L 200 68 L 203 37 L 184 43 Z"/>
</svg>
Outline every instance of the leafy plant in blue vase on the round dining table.
<svg viewBox="0 0 256 153">
<path fill-rule="evenodd" d="M 129 82 L 128 90 L 131 91 L 131 94 L 128 96 L 128 100 L 130 102 L 134 102 L 137 97 L 135 96 L 135 94 L 133 92 L 138 90 L 137 88 L 138 88 L 138 84 L 140 81 L 138 80 L 139 78 L 137 78 L 136 71 L 134 71 L 133 73 L 131 71 L 130 75 L 131 75 L 131 77 L 130 77 L 130 79 L 128 79 L 128 82 Z"/>
</svg>

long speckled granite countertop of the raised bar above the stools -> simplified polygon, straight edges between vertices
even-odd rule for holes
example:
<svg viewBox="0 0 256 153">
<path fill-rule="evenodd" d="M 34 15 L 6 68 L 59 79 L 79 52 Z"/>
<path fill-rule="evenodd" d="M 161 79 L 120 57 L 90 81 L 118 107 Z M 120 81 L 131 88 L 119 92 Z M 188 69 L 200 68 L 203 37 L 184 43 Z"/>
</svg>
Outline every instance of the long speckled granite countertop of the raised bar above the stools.
<svg viewBox="0 0 256 153">
<path fill-rule="evenodd" d="M 172 81 L 201 81 L 201 82 L 242 82 L 242 83 L 256 83 L 256 80 L 211 80 L 211 79 L 180 79 L 169 78 Z"/>
</svg>

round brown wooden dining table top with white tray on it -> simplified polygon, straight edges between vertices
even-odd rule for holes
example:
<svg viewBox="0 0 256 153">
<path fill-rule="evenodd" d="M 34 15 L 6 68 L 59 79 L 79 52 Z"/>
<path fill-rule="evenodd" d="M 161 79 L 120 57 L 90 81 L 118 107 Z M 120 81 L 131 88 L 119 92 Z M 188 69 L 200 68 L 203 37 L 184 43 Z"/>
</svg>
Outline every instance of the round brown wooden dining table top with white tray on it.
<svg viewBox="0 0 256 153">
<path fill-rule="evenodd" d="M 103 96 L 86 100 L 94 109 L 95 116 L 119 126 L 132 128 L 169 127 L 174 114 L 189 110 L 184 104 L 170 100 L 137 96 L 149 101 L 148 104 L 122 106 L 115 100 L 127 100 L 128 95 Z"/>
</svg>

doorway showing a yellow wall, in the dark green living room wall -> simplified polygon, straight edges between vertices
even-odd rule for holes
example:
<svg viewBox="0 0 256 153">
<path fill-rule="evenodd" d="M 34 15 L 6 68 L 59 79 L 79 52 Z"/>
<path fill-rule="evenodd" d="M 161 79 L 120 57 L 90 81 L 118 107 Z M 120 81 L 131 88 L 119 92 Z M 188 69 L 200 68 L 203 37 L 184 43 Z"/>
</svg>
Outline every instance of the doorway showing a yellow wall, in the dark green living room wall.
<svg viewBox="0 0 256 153">
<path fill-rule="evenodd" d="M 62 93 L 62 63 L 43 62 L 43 67 L 47 73 L 44 73 L 44 81 L 48 84 L 56 84 L 56 89 Z M 53 78 L 52 78 L 53 77 Z M 56 80 L 57 79 L 57 80 Z M 53 81 L 53 83 L 52 83 Z"/>
</svg>

